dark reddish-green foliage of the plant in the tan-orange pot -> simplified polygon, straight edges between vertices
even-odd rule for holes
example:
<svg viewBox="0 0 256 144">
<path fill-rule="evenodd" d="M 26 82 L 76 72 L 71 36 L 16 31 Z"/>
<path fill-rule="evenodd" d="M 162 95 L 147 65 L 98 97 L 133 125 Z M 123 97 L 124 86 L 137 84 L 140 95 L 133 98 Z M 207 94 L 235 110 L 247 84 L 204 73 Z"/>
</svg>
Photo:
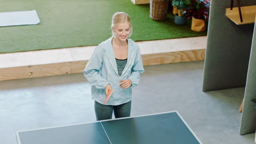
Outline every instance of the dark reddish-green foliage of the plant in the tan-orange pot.
<svg viewBox="0 0 256 144">
<path fill-rule="evenodd" d="M 189 7 L 183 11 L 183 14 L 188 16 L 188 19 L 195 17 L 207 21 L 209 19 L 210 3 L 205 3 L 204 0 L 190 0 Z"/>
</svg>

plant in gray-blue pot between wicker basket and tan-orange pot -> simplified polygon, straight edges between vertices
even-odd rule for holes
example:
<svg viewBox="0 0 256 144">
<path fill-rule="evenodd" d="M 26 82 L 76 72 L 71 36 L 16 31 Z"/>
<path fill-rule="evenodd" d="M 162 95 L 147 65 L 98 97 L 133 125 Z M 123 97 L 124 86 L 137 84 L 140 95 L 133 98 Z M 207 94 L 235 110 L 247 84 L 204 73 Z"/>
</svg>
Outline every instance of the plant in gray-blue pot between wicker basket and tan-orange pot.
<svg viewBox="0 0 256 144">
<path fill-rule="evenodd" d="M 172 0 L 172 6 L 177 8 L 177 14 L 174 17 L 174 23 L 177 25 L 184 25 L 187 17 L 184 16 L 184 8 L 190 4 L 190 0 Z"/>
</svg>

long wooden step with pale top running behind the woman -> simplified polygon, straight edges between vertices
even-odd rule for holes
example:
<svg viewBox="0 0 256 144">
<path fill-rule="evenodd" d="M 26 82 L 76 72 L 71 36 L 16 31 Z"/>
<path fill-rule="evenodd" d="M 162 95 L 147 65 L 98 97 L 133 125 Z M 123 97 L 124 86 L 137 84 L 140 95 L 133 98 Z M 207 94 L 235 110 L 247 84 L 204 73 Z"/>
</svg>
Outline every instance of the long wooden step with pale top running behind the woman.
<svg viewBox="0 0 256 144">
<path fill-rule="evenodd" d="M 205 58 L 206 36 L 136 42 L 144 65 L 199 61 Z M 0 81 L 83 73 L 96 46 L 1 53 Z"/>
</svg>

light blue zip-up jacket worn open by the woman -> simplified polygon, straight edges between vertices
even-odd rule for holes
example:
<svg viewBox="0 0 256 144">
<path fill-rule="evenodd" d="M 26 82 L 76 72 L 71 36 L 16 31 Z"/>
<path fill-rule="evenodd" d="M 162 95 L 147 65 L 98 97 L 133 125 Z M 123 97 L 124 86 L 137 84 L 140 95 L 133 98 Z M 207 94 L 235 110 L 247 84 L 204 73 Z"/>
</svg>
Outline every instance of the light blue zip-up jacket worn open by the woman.
<svg viewBox="0 0 256 144">
<path fill-rule="evenodd" d="M 138 85 L 140 74 L 144 72 L 141 53 L 138 45 L 131 39 L 128 41 L 127 64 L 121 76 L 118 75 L 117 63 L 110 37 L 98 45 L 84 69 L 84 76 L 91 84 L 92 99 L 103 104 L 106 98 L 104 88 L 109 83 L 113 93 L 105 105 L 120 105 L 131 100 L 132 88 Z M 132 86 L 124 89 L 119 86 L 120 80 L 130 79 Z"/>
</svg>

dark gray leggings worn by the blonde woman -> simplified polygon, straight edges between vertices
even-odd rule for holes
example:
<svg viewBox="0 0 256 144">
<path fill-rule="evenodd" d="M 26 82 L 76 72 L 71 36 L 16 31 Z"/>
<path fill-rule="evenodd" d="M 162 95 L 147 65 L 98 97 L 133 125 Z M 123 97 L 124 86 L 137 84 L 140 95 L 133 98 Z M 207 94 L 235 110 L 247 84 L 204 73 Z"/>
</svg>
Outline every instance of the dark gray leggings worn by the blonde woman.
<svg viewBox="0 0 256 144">
<path fill-rule="evenodd" d="M 94 109 L 97 121 L 111 119 L 113 111 L 115 118 L 130 117 L 131 101 L 121 105 L 102 105 L 95 101 Z"/>
</svg>

